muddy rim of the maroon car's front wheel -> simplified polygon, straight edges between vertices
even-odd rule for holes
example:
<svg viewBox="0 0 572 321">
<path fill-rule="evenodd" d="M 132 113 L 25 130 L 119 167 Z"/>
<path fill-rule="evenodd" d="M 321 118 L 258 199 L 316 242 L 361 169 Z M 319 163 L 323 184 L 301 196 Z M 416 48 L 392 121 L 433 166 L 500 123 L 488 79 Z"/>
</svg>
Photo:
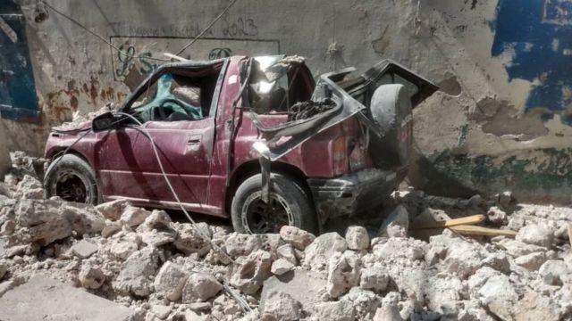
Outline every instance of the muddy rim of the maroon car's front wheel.
<svg viewBox="0 0 572 321">
<path fill-rule="evenodd" d="M 80 173 L 64 170 L 58 173 L 53 191 L 63 201 L 86 203 L 91 197 L 88 186 L 88 182 Z"/>
</svg>

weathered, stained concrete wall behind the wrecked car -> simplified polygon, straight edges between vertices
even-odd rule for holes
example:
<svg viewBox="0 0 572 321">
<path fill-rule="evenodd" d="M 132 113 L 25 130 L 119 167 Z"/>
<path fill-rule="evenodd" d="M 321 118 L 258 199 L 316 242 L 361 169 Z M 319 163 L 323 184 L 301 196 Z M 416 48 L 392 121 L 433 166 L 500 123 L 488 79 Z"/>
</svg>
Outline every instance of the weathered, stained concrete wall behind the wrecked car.
<svg viewBox="0 0 572 321">
<path fill-rule="evenodd" d="M 18 3 L 40 116 L 0 124 L 4 148 L 36 153 L 47 128 L 121 102 L 160 63 L 148 57 L 177 52 L 228 4 L 48 0 L 140 57 L 130 59 L 55 12 L 36 23 L 36 2 Z M 570 0 L 239 0 L 181 55 L 296 53 L 316 74 L 394 59 L 445 91 L 415 111 L 411 182 L 433 193 L 512 189 L 520 201 L 569 202 L 571 8 Z"/>
</svg>

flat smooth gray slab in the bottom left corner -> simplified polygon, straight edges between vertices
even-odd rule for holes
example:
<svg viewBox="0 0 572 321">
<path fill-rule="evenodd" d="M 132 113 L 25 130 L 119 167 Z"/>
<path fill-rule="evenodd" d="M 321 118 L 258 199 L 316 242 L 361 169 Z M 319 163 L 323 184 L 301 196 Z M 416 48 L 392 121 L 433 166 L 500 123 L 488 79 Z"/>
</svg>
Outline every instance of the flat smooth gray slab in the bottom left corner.
<svg viewBox="0 0 572 321">
<path fill-rule="evenodd" d="M 120 321 L 127 320 L 132 312 L 113 301 L 39 275 L 0 298 L 1 321 Z"/>
</svg>

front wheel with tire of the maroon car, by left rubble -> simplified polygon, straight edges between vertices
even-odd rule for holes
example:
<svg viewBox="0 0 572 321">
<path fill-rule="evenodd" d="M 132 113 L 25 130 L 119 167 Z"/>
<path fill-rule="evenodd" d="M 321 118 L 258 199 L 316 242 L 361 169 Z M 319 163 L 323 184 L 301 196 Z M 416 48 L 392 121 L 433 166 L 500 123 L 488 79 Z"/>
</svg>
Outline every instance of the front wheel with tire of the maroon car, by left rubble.
<svg viewBox="0 0 572 321">
<path fill-rule="evenodd" d="M 46 198 L 97 205 L 101 200 L 96 174 L 87 161 L 74 154 L 56 158 L 44 177 Z"/>
</svg>

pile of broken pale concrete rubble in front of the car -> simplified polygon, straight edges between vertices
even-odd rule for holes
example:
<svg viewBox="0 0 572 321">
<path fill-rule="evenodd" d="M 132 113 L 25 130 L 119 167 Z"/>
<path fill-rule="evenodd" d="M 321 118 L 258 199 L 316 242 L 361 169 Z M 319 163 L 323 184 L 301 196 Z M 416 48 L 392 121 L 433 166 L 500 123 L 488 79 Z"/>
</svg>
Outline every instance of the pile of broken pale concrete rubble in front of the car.
<svg viewBox="0 0 572 321">
<path fill-rule="evenodd" d="M 1 185 L 0 304 L 45 275 L 130 308 L 131 320 L 572 317 L 572 210 L 517 204 L 509 193 L 486 201 L 400 192 L 381 228 L 316 237 L 292 226 L 268 235 L 191 226 L 121 200 L 96 207 L 43 200 L 30 192 L 38 185 L 29 176 Z M 516 238 L 408 231 L 418 219 L 471 213 L 486 213 L 487 225 L 509 226 Z"/>
</svg>

